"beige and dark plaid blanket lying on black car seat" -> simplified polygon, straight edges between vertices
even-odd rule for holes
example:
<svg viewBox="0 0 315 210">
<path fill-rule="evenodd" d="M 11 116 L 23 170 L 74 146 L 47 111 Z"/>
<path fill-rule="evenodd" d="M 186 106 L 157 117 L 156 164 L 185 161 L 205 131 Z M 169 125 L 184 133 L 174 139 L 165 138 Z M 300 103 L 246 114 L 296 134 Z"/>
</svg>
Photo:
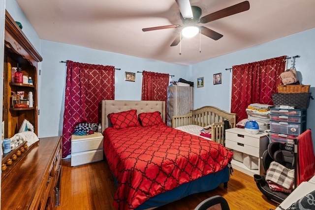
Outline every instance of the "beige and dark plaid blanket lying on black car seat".
<svg viewBox="0 0 315 210">
<path fill-rule="evenodd" d="M 266 180 L 276 183 L 285 189 L 292 189 L 294 185 L 294 169 L 288 169 L 273 161 L 267 170 Z"/>
</svg>

